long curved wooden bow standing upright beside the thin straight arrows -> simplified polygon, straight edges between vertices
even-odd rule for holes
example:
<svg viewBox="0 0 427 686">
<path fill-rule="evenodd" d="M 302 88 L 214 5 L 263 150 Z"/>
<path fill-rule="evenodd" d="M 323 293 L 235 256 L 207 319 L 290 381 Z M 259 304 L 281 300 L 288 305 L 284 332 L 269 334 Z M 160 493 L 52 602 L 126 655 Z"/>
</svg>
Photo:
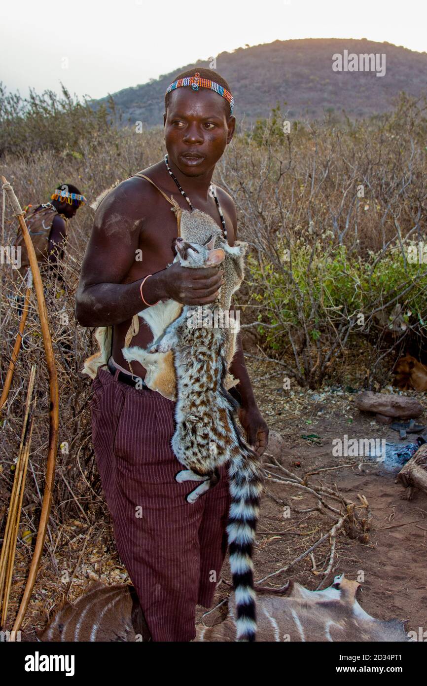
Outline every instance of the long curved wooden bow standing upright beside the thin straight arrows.
<svg viewBox="0 0 427 686">
<path fill-rule="evenodd" d="M 58 395 L 58 376 L 56 373 L 55 356 L 53 355 L 53 346 L 51 340 L 51 334 L 49 331 L 49 320 L 47 318 L 47 309 L 45 302 L 45 294 L 43 292 L 42 279 L 40 276 L 40 270 L 38 269 L 38 262 L 36 258 L 36 252 L 34 251 L 34 246 L 32 244 L 32 239 L 29 236 L 25 220 L 23 218 L 23 211 L 15 196 L 12 186 L 5 180 L 4 176 L 1 177 L 3 182 L 3 189 L 5 189 L 10 204 L 15 216 L 18 218 L 19 226 L 23 233 L 23 239 L 25 241 L 25 248 L 27 248 L 27 253 L 29 257 L 29 265 L 32 269 L 33 274 L 33 284 L 34 290 L 36 291 L 36 298 L 38 304 L 38 312 L 40 315 L 40 326 L 42 329 L 43 344 L 45 346 L 45 356 L 47 363 L 47 370 L 49 373 L 49 447 L 47 452 L 47 465 L 46 465 L 46 480 L 45 480 L 45 490 L 42 499 L 42 510 L 40 513 L 40 522 L 38 525 L 36 545 L 34 547 L 34 554 L 32 557 L 31 565 L 29 567 L 27 584 L 25 585 L 25 590 L 23 593 L 23 598 L 21 600 L 21 605 L 19 606 L 18 614 L 13 626 L 13 631 L 18 631 L 21 627 L 23 617 L 27 611 L 27 606 L 29 599 L 31 598 L 32 591 L 34 588 L 34 583 L 36 581 L 38 567 L 40 565 L 40 559 L 43 552 L 43 545 L 45 543 L 45 537 L 47 532 L 47 525 L 49 523 L 49 514 L 51 511 L 52 504 L 52 489 L 53 482 L 55 479 L 55 466 L 56 466 L 56 452 L 58 449 L 58 425 L 59 425 L 59 395 Z"/>
</svg>

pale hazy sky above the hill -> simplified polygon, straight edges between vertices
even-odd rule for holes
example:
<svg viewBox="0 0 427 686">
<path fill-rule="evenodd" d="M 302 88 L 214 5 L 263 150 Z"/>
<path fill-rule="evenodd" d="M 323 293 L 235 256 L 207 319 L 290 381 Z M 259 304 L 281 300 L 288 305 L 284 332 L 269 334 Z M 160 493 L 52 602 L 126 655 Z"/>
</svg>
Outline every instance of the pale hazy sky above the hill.
<svg viewBox="0 0 427 686">
<path fill-rule="evenodd" d="M 368 38 L 427 51 L 425 0 L 15 0 L 0 12 L 0 80 L 23 95 L 28 86 L 59 91 L 62 81 L 102 97 L 277 39 Z"/>
</svg>

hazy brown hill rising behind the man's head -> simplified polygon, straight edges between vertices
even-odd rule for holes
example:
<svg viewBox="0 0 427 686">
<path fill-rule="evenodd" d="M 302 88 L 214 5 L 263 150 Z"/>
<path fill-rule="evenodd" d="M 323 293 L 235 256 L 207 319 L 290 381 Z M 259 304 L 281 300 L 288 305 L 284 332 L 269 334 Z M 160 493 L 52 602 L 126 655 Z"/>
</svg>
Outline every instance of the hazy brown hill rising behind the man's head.
<svg viewBox="0 0 427 686">
<path fill-rule="evenodd" d="M 385 75 L 375 71 L 333 71 L 334 54 L 385 54 Z M 209 67 L 206 60 L 186 64 L 157 80 L 113 93 L 123 123 L 143 121 L 162 124 L 163 99 L 167 86 L 181 71 Z M 217 56 L 216 69 L 228 80 L 236 106 L 236 117 L 254 121 L 266 117 L 277 102 L 289 117 L 317 118 L 324 112 L 352 118 L 382 113 L 393 98 L 427 92 L 427 53 L 415 52 L 391 43 L 345 38 L 275 40 L 273 43 L 238 48 Z M 105 102 L 106 98 L 97 102 Z"/>
</svg>

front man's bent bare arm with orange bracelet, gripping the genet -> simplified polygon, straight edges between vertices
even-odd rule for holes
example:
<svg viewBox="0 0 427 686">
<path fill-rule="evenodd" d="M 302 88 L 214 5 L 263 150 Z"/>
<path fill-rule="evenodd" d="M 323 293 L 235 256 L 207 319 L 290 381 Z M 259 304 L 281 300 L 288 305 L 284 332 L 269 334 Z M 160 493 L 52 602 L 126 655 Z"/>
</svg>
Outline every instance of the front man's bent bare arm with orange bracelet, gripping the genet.
<svg viewBox="0 0 427 686">
<path fill-rule="evenodd" d="M 128 179 L 113 189 L 95 214 L 75 296 L 75 316 L 83 327 L 120 324 L 147 307 L 141 300 L 141 279 L 122 283 L 134 263 L 143 230 L 141 202 L 149 201 L 141 180 Z M 147 199 L 148 198 L 148 199 Z M 147 303 L 172 298 L 187 305 L 214 302 L 218 268 L 186 269 L 179 263 L 155 272 L 144 284 Z M 202 297 L 203 296 L 203 297 Z"/>
</svg>

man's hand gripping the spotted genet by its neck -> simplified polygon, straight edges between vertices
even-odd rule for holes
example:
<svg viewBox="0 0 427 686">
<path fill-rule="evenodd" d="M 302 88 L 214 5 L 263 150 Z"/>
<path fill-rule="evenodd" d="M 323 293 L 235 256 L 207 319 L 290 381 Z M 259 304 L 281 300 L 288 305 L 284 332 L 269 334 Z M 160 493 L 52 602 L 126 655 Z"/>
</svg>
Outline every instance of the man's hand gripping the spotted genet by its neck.
<svg viewBox="0 0 427 686">
<path fill-rule="evenodd" d="M 223 281 L 221 265 L 188 269 L 176 262 L 162 272 L 163 288 L 167 296 L 184 305 L 214 303 Z"/>
</svg>

